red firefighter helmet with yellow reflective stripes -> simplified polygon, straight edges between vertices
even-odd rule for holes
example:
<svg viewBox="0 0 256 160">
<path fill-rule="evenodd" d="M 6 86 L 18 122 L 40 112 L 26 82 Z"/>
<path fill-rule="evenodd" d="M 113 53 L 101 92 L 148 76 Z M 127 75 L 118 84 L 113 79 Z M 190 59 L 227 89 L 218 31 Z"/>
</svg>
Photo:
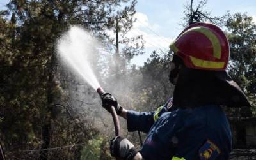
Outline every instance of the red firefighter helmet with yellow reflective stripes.
<svg viewBox="0 0 256 160">
<path fill-rule="evenodd" d="M 198 22 L 189 25 L 170 45 L 188 68 L 223 71 L 229 59 L 227 37 L 219 27 Z"/>
</svg>

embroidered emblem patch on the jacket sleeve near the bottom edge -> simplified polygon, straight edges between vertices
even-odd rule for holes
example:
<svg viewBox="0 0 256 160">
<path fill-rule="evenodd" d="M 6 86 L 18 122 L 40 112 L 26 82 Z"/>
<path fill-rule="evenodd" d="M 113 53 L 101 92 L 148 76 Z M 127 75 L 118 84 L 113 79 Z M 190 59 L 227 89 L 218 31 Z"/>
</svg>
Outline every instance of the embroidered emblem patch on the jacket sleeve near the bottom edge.
<svg viewBox="0 0 256 160">
<path fill-rule="evenodd" d="M 211 140 L 207 140 L 199 149 L 200 160 L 214 160 L 220 153 L 220 149 Z"/>
</svg>

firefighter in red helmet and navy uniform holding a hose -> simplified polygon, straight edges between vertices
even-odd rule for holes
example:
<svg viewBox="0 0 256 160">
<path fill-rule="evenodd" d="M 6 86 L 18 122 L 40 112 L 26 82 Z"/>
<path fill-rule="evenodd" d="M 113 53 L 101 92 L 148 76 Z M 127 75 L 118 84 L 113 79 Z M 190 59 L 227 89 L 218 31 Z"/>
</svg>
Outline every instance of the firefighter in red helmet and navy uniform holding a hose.
<svg viewBox="0 0 256 160">
<path fill-rule="evenodd" d="M 128 131 L 143 131 L 141 150 L 127 138 L 111 140 L 112 156 L 121 159 L 218 159 L 227 160 L 232 134 L 223 106 L 250 106 L 226 69 L 230 54 L 227 37 L 219 27 L 198 22 L 189 25 L 170 45 L 170 82 L 173 98 L 155 112 L 125 110 L 111 94 L 102 106 L 115 106 L 127 119 Z"/>
</svg>

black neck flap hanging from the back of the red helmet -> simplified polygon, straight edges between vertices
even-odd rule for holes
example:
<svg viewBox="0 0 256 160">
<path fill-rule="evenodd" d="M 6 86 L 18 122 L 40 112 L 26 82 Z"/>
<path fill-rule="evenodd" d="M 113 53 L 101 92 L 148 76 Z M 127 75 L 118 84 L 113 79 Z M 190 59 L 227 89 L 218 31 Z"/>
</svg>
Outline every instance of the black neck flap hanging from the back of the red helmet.
<svg viewBox="0 0 256 160">
<path fill-rule="evenodd" d="M 251 106 L 244 92 L 226 71 L 180 69 L 173 93 L 173 108 L 204 105 Z"/>
</svg>

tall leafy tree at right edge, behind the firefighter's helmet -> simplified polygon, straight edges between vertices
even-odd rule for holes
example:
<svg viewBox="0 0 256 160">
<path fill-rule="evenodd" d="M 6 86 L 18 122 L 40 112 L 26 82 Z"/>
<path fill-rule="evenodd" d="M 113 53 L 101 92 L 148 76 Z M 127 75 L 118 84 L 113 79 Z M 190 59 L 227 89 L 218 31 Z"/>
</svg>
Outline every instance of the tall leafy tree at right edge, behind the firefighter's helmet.
<svg viewBox="0 0 256 160">
<path fill-rule="evenodd" d="M 226 27 L 230 42 L 228 73 L 250 99 L 255 115 L 256 24 L 252 17 L 236 13 L 228 19 Z"/>
</svg>

